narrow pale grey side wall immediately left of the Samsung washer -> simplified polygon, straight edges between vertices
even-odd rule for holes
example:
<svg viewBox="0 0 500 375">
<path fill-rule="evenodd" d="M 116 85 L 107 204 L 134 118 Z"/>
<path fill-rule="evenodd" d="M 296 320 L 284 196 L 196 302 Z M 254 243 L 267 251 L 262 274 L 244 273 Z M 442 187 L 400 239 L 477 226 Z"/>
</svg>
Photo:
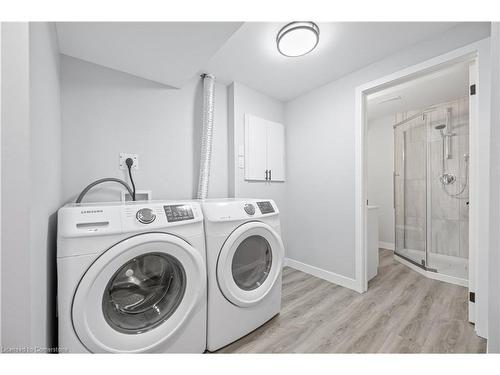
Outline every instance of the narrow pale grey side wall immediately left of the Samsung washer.
<svg viewBox="0 0 500 375">
<path fill-rule="evenodd" d="M 31 345 L 56 336 L 56 233 L 61 206 L 60 58 L 55 25 L 29 25 Z"/>
</svg>

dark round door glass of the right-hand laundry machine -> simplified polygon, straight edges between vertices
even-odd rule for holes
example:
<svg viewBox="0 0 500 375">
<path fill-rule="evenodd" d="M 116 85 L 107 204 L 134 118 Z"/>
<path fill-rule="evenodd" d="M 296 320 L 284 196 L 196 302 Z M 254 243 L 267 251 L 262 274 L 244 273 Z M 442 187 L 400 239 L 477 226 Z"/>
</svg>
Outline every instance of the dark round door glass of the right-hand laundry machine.
<svg viewBox="0 0 500 375">
<path fill-rule="evenodd" d="M 262 236 L 244 239 L 236 249 L 232 261 L 233 279 L 243 290 L 257 289 L 267 279 L 272 265 L 272 250 Z"/>
</svg>

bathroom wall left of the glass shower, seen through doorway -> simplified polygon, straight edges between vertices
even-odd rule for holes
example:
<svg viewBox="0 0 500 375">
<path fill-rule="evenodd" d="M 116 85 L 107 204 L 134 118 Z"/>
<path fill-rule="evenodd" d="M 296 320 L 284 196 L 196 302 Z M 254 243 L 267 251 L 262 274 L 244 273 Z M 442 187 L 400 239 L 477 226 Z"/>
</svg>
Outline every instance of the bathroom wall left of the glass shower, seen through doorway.
<svg viewBox="0 0 500 375">
<path fill-rule="evenodd" d="M 392 173 L 394 169 L 395 116 L 384 116 L 368 122 L 367 195 L 368 204 L 378 206 L 379 241 L 394 247 L 394 207 Z M 389 246 L 392 244 L 392 247 Z"/>
</svg>

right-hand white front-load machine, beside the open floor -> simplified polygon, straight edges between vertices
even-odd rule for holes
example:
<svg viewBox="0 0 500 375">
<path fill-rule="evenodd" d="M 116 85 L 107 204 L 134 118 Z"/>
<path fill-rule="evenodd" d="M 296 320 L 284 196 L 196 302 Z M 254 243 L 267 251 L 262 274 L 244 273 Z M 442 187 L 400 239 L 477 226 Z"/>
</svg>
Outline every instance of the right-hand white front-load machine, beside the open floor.
<svg viewBox="0 0 500 375">
<path fill-rule="evenodd" d="M 284 248 L 269 199 L 202 202 L 208 272 L 207 349 L 215 351 L 280 312 Z"/>
</svg>

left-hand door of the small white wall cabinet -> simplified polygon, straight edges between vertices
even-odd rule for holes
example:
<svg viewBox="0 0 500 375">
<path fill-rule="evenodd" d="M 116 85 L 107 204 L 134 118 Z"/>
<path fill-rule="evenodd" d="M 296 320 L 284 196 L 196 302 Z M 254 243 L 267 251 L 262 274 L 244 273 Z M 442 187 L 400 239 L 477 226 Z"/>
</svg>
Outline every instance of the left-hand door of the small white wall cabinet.
<svg viewBox="0 0 500 375">
<path fill-rule="evenodd" d="M 267 121 L 245 115 L 245 180 L 266 180 Z"/>
</svg>

